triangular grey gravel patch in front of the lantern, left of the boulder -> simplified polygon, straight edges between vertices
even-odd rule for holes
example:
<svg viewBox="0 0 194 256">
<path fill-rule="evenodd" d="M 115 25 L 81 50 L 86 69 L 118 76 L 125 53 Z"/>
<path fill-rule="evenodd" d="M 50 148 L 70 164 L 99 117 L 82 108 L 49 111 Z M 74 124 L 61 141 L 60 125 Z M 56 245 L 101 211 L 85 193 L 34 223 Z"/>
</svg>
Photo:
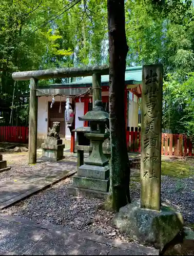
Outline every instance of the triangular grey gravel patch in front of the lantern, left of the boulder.
<svg viewBox="0 0 194 256">
<path fill-rule="evenodd" d="M 131 241 L 126 234 L 111 226 L 111 219 L 114 216 L 112 212 L 97 209 L 103 200 L 68 195 L 67 186 L 71 183 L 72 178 L 67 178 L 25 201 L 2 210 L 1 214 L 61 224 L 106 238 Z"/>
</svg>

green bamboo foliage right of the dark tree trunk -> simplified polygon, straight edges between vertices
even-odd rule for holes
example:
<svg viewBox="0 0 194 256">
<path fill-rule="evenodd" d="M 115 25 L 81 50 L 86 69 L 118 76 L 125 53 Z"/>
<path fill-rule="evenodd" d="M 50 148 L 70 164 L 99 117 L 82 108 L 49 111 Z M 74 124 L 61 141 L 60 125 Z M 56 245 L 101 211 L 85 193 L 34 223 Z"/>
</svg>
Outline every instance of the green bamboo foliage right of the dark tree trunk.
<svg viewBox="0 0 194 256">
<path fill-rule="evenodd" d="M 128 0 L 126 11 L 127 64 L 163 63 L 163 128 L 193 136 L 191 1 Z"/>
</svg>

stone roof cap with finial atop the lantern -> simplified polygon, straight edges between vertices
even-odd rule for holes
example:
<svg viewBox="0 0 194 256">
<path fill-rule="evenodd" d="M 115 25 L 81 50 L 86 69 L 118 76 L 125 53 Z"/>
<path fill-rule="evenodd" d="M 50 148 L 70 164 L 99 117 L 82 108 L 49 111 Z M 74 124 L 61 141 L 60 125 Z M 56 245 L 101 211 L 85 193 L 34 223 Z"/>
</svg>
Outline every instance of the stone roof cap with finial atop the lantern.
<svg viewBox="0 0 194 256">
<path fill-rule="evenodd" d="M 92 111 L 88 111 L 84 116 L 78 117 L 80 121 L 107 122 L 109 114 L 104 111 L 102 100 L 96 100 Z"/>
</svg>

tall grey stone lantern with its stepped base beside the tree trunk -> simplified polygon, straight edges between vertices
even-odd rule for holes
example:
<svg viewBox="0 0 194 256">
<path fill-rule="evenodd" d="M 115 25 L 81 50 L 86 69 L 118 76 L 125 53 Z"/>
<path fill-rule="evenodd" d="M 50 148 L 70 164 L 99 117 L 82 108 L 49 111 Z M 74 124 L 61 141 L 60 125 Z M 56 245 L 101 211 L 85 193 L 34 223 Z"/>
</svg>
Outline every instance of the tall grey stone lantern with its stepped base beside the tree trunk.
<svg viewBox="0 0 194 256">
<path fill-rule="evenodd" d="M 109 114 L 104 111 L 102 101 L 96 100 L 93 110 L 79 117 L 79 120 L 90 122 L 90 133 L 86 133 L 85 136 L 91 141 L 92 153 L 78 168 L 69 193 L 104 198 L 108 193 L 110 181 L 109 159 L 103 154 L 102 144 L 109 137 L 109 134 L 105 133 Z"/>
</svg>

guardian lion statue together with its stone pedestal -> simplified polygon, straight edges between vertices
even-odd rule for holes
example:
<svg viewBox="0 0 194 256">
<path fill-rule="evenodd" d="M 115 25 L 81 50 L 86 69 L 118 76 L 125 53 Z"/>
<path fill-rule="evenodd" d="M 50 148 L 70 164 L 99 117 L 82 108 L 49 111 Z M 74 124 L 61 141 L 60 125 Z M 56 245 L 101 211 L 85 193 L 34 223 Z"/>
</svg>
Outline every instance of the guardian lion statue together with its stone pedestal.
<svg viewBox="0 0 194 256">
<path fill-rule="evenodd" d="M 60 122 L 53 122 L 52 129 L 49 130 L 45 143 L 41 145 L 43 149 L 43 160 L 59 161 L 62 160 L 65 144 L 59 137 Z"/>
</svg>

